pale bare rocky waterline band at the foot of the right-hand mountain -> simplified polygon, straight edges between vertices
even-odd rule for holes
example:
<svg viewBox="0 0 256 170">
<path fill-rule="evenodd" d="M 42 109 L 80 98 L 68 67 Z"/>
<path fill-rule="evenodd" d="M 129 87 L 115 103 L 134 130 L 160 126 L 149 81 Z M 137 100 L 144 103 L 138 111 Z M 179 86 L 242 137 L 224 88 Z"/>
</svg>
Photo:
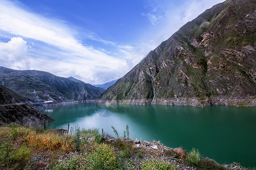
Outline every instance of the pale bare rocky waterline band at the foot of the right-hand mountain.
<svg viewBox="0 0 256 170">
<path fill-rule="evenodd" d="M 207 107 L 210 105 L 229 105 L 237 107 L 256 107 L 256 97 L 176 97 L 172 99 L 125 99 L 125 100 L 94 100 L 97 104 L 128 104 L 128 105 L 187 105 L 192 107 Z"/>
</svg>

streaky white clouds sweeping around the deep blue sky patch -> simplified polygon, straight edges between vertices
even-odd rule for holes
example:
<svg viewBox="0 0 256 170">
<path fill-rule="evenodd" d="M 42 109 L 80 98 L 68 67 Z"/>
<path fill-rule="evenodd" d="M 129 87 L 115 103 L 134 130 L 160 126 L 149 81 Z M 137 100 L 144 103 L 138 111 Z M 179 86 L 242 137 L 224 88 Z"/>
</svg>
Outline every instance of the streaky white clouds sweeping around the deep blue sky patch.
<svg viewBox="0 0 256 170">
<path fill-rule="evenodd" d="M 183 1 L 174 8 L 172 1 L 148 1 L 152 9 L 143 15 L 154 27 L 143 31 L 136 42 L 118 44 L 103 40 L 96 33 L 84 33 L 90 40 L 112 46 L 114 50 L 110 50 L 105 46 L 94 49 L 82 45 L 76 38 L 82 33 L 68 27 L 65 22 L 45 18 L 13 2 L 0 0 L 0 37 L 10 39 L 9 42 L 0 42 L 0 63 L 13 69 L 43 70 L 64 77 L 74 76 L 87 83 L 105 83 L 120 78 L 183 24 L 222 2 Z"/>
</svg>

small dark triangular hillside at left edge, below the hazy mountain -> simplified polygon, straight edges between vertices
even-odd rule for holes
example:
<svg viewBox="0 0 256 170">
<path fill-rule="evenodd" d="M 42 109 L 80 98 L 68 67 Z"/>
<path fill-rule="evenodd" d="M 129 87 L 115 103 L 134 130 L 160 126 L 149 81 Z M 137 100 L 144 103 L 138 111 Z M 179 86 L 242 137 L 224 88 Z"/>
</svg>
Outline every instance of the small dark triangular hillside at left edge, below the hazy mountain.
<svg viewBox="0 0 256 170">
<path fill-rule="evenodd" d="M 25 97 L 0 85 L 0 104 L 26 103 L 27 101 Z"/>
</svg>

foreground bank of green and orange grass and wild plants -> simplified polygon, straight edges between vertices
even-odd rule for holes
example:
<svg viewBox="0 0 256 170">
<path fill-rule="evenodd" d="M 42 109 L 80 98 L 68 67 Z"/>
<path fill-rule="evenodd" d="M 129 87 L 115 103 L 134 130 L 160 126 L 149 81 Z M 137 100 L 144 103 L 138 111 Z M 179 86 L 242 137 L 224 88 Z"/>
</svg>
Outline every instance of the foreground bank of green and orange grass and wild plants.
<svg viewBox="0 0 256 170">
<path fill-rule="evenodd" d="M 92 140 L 80 139 L 82 136 Z M 156 151 L 136 148 L 126 139 L 118 138 L 114 142 L 102 139 L 98 129 L 64 135 L 17 124 L 0 126 L 0 169 L 178 169 L 159 160 Z M 194 148 L 189 154 L 182 148 L 164 154 L 174 155 L 197 169 L 225 169 L 211 160 L 201 160 Z"/>
</svg>

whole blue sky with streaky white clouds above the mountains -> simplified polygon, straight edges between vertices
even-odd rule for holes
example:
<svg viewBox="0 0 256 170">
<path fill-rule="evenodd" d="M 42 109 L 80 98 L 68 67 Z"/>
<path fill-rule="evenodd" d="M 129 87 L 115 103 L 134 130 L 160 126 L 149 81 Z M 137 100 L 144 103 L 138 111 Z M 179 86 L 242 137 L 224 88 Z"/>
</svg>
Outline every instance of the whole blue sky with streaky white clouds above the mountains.
<svg viewBox="0 0 256 170">
<path fill-rule="evenodd" d="M 0 0 L 0 66 L 102 84 L 224 0 Z"/>
</svg>

